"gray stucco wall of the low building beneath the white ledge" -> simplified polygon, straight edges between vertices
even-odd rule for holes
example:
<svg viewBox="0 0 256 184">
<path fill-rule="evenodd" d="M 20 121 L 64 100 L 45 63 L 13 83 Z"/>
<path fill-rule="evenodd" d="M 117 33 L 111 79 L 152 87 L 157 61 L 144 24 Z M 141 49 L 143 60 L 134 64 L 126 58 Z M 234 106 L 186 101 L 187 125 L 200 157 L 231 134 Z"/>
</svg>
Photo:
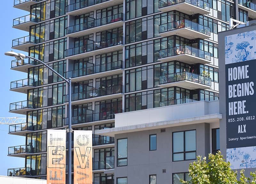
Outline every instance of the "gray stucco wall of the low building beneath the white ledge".
<svg viewBox="0 0 256 184">
<path fill-rule="evenodd" d="M 207 156 L 210 152 L 210 125 L 207 123 L 147 130 L 115 135 L 115 142 L 128 138 L 128 165 L 116 167 L 115 181 L 128 177 L 128 184 L 148 184 L 149 175 L 156 174 L 157 183 L 172 183 L 172 173 L 188 172 L 189 163 L 195 160 L 172 162 L 172 132 L 196 129 L 196 155 Z M 156 134 L 157 150 L 149 151 L 149 135 Z M 115 144 L 115 158 L 117 158 Z M 162 170 L 166 169 L 166 173 Z"/>
</svg>

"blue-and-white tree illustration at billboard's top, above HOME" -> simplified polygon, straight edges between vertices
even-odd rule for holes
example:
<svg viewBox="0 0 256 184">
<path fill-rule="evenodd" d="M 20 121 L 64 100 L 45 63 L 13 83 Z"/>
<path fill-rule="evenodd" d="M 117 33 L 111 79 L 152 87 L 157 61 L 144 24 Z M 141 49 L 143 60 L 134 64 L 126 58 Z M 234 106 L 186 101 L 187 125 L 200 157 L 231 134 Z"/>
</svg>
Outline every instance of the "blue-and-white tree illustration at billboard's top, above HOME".
<svg viewBox="0 0 256 184">
<path fill-rule="evenodd" d="M 256 30 L 225 36 L 225 63 L 255 59 Z"/>
</svg>

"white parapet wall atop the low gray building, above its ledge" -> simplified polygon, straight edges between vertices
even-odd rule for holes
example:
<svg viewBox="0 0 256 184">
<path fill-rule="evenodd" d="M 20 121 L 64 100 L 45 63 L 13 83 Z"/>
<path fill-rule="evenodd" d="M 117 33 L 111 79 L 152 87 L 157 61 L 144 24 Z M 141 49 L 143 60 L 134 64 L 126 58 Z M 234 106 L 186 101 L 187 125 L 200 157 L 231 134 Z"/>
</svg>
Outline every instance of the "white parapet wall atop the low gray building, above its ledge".
<svg viewBox="0 0 256 184">
<path fill-rule="evenodd" d="M 126 127 L 159 121 L 193 118 L 219 113 L 219 101 L 198 101 L 116 114 L 115 127 Z"/>
</svg>

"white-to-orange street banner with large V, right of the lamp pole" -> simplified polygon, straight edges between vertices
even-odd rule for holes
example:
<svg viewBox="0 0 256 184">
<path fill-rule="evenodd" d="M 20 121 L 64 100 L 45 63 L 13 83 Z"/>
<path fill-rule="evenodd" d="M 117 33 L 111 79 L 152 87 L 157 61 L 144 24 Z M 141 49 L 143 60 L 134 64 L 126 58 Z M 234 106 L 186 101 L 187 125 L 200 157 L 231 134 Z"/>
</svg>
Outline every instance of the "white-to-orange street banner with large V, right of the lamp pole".
<svg viewBox="0 0 256 184">
<path fill-rule="evenodd" d="M 74 131 L 74 184 L 92 184 L 92 131 Z"/>
</svg>

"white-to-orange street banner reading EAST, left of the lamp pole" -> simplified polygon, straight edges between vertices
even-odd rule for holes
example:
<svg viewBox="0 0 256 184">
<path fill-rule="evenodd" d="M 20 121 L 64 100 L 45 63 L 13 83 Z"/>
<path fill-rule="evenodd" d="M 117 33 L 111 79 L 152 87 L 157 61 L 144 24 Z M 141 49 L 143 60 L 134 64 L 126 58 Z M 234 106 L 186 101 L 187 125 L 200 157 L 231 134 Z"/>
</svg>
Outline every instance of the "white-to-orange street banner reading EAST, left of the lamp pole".
<svg viewBox="0 0 256 184">
<path fill-rule="evenodd" d="M 66 184 L 66 130 L 47 130 L 47 184 Z"/>
</svg>

